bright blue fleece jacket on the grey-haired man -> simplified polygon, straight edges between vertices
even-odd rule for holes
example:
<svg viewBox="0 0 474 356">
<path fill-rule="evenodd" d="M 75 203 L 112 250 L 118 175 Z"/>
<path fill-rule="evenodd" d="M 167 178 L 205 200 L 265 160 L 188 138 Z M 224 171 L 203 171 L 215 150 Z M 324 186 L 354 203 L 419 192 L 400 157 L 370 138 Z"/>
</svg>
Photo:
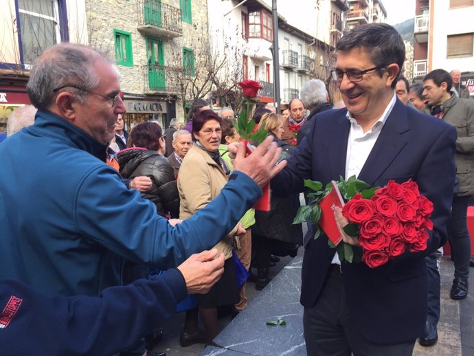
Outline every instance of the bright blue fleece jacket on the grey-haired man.
<svg viewBox="0 0 474 356">
<path fill-rule="evenodd" d="M 105 152 L 45 111 L 0 145 L 0 278 L 97 296 L 122 284 L 124 258 L 168 269 L 216 245 L 262 194 L 237 173 L 206 208 L 172 227 L 152 202 L 126 189 Z"/>
</svg>

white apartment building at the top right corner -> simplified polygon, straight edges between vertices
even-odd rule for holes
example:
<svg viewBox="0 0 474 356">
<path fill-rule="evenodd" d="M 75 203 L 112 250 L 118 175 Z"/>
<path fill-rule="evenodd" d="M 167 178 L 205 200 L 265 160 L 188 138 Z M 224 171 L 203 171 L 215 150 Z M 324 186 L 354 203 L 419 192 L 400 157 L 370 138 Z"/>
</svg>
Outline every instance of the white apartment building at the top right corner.
<svg viewBox="0 0 474 356">
<path fill-rule="evenodd" d="M 473 0 L 416 0 L 414 78 L 459 69 L 474 96 Z"/>
</svg>

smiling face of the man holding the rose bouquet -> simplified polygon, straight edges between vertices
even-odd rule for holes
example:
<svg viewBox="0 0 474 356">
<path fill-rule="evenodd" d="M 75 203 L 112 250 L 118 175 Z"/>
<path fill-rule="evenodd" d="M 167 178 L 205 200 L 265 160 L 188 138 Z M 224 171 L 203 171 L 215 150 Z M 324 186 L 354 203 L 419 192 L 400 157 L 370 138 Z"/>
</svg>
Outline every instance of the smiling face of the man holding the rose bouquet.
<svg viewBox="0 0 474 356">
<path fill-rule="evenodd" d="M 363 48 L 354 48 L 337 53 L 336 69 L 340 71 L 363 71 L 376 67 L 368 52 Z M 387 65 L 382 76 L 379 71 L 363 74 L 359 82 L 351 82 L 344 74 L 339 84 L 344 103 L 352 117 L 359 124 L 378 120 L 394 95 L 392 81 L 398 73 L 398 65 Z"/>
</svg>

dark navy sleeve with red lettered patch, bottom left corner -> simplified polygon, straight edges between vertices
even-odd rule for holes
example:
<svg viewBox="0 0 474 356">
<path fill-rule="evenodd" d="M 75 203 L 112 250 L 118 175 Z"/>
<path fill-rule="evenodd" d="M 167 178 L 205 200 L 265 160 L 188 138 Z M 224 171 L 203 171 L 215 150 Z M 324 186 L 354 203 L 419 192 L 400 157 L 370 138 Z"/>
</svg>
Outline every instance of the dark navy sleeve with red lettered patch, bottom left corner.
<svg viewBox="0 0 474 356">
<path fill-rule="evenodd" d="M 113 355 L 172 317 L 186 295 L 179 271 L 104 289 L 98 297 L 45 295 L 0 280 L 0 354 Z"/>
</svg>

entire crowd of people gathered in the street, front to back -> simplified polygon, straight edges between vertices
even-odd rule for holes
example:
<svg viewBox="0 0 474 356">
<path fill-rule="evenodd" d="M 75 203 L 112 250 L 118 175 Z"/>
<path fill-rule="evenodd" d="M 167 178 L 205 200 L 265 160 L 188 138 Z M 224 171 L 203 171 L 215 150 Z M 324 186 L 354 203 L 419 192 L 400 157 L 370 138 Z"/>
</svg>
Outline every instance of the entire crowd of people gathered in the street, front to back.
<svg viewBox="0 0 474 356">
<path fill-rule="evenodd" d="M 30 74 L 32 106 L 13 112 L 14 134 L 0 144 L 3 349 L 153 355 L 177 311 L 181 346 L 215 345 L 218 308 L 244 310 L 247 278 L 263 289 L 272 261 L 301 246 L 308 355 L 408 356 L 417 339 L 435 344 L 448 240 L 450 297 L 469 289 L 474 100 L 457 70 L 410 85 L 390 25 L 354 28 L 336 53 L 335 91 L 312 79 L 281 113 L 253 110 L 267 138 L 247 155 L 232 107 L 216 113 L 200 98 L 164 131 L 157 122 L 125 128 L 111 60 L 83 45 L 49 47 Z M 416 181 L 434 206 L 427 249 L 370 269 L 339 260 L 311 224 L 303 236 L 293 218 L 304 179 L 352 175 L 370 186 Z M 254 210 L 269 181 L 269 211 Z M 335 219 L 343 241 L 358 246 L 340 210 Z"/>
</svg>

